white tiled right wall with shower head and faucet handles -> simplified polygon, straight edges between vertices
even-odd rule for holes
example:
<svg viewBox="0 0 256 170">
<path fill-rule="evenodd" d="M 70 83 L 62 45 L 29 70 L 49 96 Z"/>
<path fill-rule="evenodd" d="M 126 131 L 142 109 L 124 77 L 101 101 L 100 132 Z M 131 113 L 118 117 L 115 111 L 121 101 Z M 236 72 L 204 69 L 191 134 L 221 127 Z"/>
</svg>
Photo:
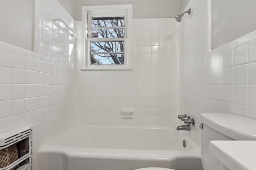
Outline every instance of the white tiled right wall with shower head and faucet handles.
<svg viewBox="0 0 256 170">
<path fill-rule="evenodd" d="M 203 112 L 228 112 L 255 119 L 256 32 L 210 51 L 210 1 L 190 0 L 186 8 L 192 14 L 180 23 L 180 113 L 198 119 Z M 201 37 L 204 43 L 198 43 Z M 192 133 L 200 145 L 200 134 Z"/>
</svg>

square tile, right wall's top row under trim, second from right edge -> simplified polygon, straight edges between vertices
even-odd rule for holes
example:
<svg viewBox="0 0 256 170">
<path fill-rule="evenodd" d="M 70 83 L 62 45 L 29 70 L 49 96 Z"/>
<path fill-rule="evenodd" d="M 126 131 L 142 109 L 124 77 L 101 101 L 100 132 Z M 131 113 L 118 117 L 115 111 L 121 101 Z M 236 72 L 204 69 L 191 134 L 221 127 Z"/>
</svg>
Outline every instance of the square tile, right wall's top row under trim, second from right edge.
<svg viewBox="0 0 256 170">
<path fill-rule="evenodd" d="M 234 48 L 234 65 L 247 63 L 248 58 L 248 44 L 241 45 Z"/>
</svg>

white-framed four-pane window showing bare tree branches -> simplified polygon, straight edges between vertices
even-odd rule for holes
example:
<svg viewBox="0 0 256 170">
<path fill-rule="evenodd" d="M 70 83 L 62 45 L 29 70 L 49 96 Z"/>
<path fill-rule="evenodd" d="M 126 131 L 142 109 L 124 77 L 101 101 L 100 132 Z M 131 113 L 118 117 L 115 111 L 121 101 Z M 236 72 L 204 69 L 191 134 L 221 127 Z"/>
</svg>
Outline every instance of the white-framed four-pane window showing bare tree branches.
<svg viewBox="0 0 256 170">
<path fill-rule="evenodd" d="M 82 70 L 130 70 L 132 5 L 82 7 Z"/>
</svg>

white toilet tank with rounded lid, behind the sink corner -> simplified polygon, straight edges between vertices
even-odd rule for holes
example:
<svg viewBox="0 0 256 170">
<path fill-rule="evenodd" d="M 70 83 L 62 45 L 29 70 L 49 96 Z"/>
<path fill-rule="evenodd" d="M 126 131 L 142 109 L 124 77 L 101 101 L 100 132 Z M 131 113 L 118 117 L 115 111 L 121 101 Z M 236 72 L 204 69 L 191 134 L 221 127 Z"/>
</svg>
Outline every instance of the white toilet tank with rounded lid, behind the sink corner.
<svg viewBox="0 0 256 170">
<path fill-rule="evenodd" d="M 256 140 L 256 120 L 230 113 L 202 113 L 201 160 L 204 170 L 221 170 L 222 163 L 209 151 L 210 141 Z"/>
</svg>

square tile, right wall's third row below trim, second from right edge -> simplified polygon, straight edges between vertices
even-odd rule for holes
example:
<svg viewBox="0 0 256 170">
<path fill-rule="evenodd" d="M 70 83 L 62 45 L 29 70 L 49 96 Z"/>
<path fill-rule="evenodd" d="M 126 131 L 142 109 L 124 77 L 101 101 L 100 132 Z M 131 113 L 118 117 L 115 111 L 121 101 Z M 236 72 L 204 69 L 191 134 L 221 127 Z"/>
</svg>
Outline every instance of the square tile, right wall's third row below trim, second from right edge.
<svg viewBox="0 0 256 170">
<path fill-rule="evenodd" d="M 234 87 L 234 103 L 247 105 L 247 90 L 248 86 L 246 85 L 235 85 Z"/>
</svg>

